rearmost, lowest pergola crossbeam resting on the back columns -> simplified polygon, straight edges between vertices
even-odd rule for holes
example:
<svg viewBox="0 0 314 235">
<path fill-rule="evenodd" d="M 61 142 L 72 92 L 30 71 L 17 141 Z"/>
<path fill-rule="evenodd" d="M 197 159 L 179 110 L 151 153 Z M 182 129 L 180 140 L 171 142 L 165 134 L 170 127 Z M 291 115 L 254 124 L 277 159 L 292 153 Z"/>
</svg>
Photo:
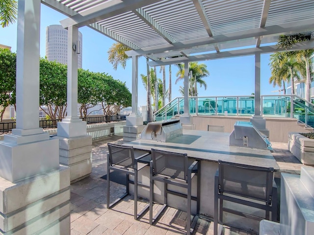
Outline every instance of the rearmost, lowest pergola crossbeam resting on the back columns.
<svg viewBox="0 0 314 235">
<path fill-rule="evenodd" d="M 314 41 L 297 43 L 288 50 L 305 50 L 305 49 L 311 49 L 311 48 L 314 48 Z M 186 61 L 195 62 L 195 61 L 215 60 L 215 59 L 223 59 L 223 58 L 230 58 L 230 57 L 254 55 L 255 53 L 263 54 L 263 53 L 272 53 L 272 52 L 279 52 L 279 51 L 287 51 L 287 50 L 278 48 L 277 46 L 253 47 L 253 48 L 240 49 L 240 50 L 224 51 L 224 52 L 219 52 L 219 53 L 209 53 L 209 54 L 203 54 L 203 55 L 176 57 L 176 58 L 171 58 L 171 59 L 166 59 L 166 60 L 150 61 L 148 62 L 148 65 L 151 67 L 154 67 L 154 66 L 178 64 L 178 63 L 183 63 Z"/>
</svg>

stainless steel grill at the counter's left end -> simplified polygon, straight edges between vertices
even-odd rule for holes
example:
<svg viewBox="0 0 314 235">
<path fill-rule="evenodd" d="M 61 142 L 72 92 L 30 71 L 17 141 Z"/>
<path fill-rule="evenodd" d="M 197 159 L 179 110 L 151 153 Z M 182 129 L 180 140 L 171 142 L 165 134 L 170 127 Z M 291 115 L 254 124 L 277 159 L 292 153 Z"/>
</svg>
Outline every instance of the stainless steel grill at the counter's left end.
<svg viewBox="0 0 314 235">
<path fill-rule="evenodd" d="M 180 135 L 182 135 L 180 120 L 162 120 L 149 122 L 140 139 L 167 142 Z"/>
</svg>

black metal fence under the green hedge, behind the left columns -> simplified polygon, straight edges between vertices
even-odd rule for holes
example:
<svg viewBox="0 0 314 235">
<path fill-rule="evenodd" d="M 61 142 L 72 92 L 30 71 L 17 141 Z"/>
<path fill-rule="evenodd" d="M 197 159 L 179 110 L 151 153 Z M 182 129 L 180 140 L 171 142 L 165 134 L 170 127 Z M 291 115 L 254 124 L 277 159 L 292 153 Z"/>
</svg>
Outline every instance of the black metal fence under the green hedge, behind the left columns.
<svg viewBox="0 0 314 235">
<path fill-rule="evenodd" d="M 125 121 L 127 120 L 127 116 L 126 115 L 114 115 L 114 116 L 102 116 L 102 117 L 87 117 L 87 118 L 81 118 L 81 119 L 83 121 L 86 121 L 87 124 L 93 124 L 93 123 L 101 123 L 101 122 Z M 57 128 L 58 121 L 62 121 L 62 119 L 40 120 L 39 127 L 42 127 L 44 129 Z M 12 131 L 12 129 L 14 128 L 16 128 L 15 121 L 0 122 L 0 133 Z"/>
</svg>

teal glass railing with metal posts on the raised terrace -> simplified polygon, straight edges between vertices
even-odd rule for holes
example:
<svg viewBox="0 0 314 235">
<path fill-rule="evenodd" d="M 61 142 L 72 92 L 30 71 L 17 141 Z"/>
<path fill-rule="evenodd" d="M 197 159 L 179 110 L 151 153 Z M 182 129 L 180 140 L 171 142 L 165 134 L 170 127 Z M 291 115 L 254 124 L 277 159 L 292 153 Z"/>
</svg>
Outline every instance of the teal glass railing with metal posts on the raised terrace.
<svg viewBox="0 0 314 235">
<path fill-rule="evenodd" d="M 254 95 L 189 97 L 189 113 L 191 115 L 253 116 L 254 107 Z M 155 120 L 165 120 L 183 113 L 184 98 L 178 97 L 158 110 L 154 116 Z M 297 95 L 262 95 L 261 115 L 297 118 L 300 122 L 314 127 L 314 104 Z"/>
</svg>

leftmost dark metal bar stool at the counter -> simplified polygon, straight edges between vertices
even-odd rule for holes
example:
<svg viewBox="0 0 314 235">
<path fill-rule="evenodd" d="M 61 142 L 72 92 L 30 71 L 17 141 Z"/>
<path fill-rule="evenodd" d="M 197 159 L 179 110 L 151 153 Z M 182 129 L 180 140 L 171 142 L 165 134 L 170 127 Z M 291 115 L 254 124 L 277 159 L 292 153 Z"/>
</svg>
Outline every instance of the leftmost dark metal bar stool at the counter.
<svg viewBox="0 0 314 235">
<path fill-rule="evenodd" d="M 138 171 L 143 169 L 148 164 L 139 163 L 140 159 L 146 157 L 150 152 L 137 151 L 138 157 L 134 157 L 133 147 L 120 144 L 107 143 L 109 154 L 107 155 L 107 208 L 110 209 L 113 205 L 129 194 L 129 183 L 134 184 L 134 219 L 138 219 L 144 211 L 149 208 L 147 204 L 142 211 L 137 213 L 137 186 L 149 188 L 137 182 Z M 110 170 L 116 170 L 126 173 L 126 193 L 110 204 Z M 129 175 L 134 176 L 134 182 L 129 180 Z"/>
</svg>

